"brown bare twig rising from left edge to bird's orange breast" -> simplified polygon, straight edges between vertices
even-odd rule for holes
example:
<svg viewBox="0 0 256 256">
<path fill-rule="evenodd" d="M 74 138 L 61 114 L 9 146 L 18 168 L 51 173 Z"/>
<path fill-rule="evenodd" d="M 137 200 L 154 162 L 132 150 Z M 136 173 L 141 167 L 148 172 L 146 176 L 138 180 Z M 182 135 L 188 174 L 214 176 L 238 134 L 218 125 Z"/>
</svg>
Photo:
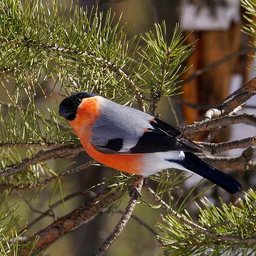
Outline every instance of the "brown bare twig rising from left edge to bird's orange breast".
<svg viewBox="0 0 256 256">
<path fill-rule="evenodd" d="M 21 172 L 26 169 L 29 165 L 34 165 L 35 163 L 42 162 L 48 159 L 59 158 L 66 155 L 77 155 L 80 152 L 84 151 L 83 147 L 59 147 L 45 152 L 40 152 L 32 158 L 23 159 L 21 163 L 8 168 L 1 170 L 0 177 L 13 175 L 16 172 Z"/>
</svg>

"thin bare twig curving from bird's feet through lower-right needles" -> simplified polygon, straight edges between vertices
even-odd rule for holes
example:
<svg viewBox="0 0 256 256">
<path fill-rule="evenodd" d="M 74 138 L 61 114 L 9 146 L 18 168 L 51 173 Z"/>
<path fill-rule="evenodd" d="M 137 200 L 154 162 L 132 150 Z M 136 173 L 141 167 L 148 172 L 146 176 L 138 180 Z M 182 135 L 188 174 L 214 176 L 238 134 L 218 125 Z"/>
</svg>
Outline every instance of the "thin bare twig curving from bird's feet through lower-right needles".
<svg viewBox="0 0 256 256">
<path fill-rule="evenodd" d="M 145 189 L 145 191 L 147 191 L 148 194 L 151 195 L 151 197 L 153 197 L 155 199 L 155 201 L 157 201 L 157 202 L 159 202 L 159 204 L 161 204 L 161 207 L 163 209 L 165 209 L 170 216 L 173 216 L 180 223 L 186 224 L 186 225 L 190 226 L 191 228 L 193 228 L 194 230 L 197 230 L 197 232 L 200 234 L 204 234 L 205 236 L 209 236 L 209 237 L 212 237 L 213 239 L 222 240 L 222 241 L 232 241 L 235 243 L 253 243 L 253 244 L 256 243 L 256 237 L 243 238 L 243 237 L 239 237 L 239 236 L 232 236 L 229 234 L 219 234 L 219 233 L 212 232 L 211 230 L 209 230 L 205 227 L 202 227 L 202 226 L 198 225 L 197 223 L 190 221 L 186 217 L 178 214 L 176 211 L 174 211 L 172 208 L 170 208 L 169 205 L 166 204 L 166 202 L 161 200 L 161 198 L 158 197 L 158 195 L 155 194 L 155 192 L 152 189 L 150 189 L 150 187 L 144 186 L 144 189 Z"/>
</svg>

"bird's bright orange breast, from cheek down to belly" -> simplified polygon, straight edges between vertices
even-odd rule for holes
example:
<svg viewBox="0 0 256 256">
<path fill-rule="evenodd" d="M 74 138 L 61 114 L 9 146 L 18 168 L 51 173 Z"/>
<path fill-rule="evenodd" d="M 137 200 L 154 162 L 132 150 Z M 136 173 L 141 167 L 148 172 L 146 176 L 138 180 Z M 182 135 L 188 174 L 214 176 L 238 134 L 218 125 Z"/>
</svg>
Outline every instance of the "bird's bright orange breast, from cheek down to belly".
<svg viewBox="0 0 256 256">
<path fill-rule="evenodd" d="M 92 127 L 101 113 L 99 98 L 84 98 L 79 108 L 77 108 L 76 118 L 70 121 L 74 132 L 79 137 L 81 144 L 87 153 L 96 161 L 111 168 L 122 170 L 123 172 L 140 175 L 143 172 L 143 155 L 136 154 L 103 154 L 97 151 L 90 143 Z M 115 131 L 113 131 L 114 133 Z M 104 134 L 102 134 L 104 136 Z"/>
</svg>

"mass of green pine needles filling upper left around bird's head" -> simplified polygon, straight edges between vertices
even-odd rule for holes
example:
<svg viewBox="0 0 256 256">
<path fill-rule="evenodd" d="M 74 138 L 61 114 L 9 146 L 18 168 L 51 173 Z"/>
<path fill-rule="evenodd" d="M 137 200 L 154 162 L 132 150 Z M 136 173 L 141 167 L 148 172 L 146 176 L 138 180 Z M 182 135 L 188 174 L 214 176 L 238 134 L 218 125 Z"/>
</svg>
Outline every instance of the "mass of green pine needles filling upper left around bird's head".
<svg viewBox="0 0 256 256">
<path fill-rule="evenodd" d="M 137 92 L 145 94 L 147 105 L 148 92 L 154 91 L 157 99 L 175 94 L 186 70 L 181 64 L 192 51 L 184 45 L 182 32 L 176 27 L 169 41 L 165 23 L 138 39 L 128 38 L 128 31 L 110 10 L 103 15 L 97 8 L 67 8 L 61 1 L 45 5 L 40 0 L 2 0 L 0 76 L 9 101 L 0 102 L 0 145 L 79 143 L 54 111 L 60 95 L 93 91 L 131 104 L 138 100 Z M 28 149 L 26 157 L 38 151 Z M 20 163 L 20 152 L 1 150 L 1 169 Z M 46 163 L 37 163 L 1 178 L 1 184 L 33 185 L 52 173 Z"/>
</svg>

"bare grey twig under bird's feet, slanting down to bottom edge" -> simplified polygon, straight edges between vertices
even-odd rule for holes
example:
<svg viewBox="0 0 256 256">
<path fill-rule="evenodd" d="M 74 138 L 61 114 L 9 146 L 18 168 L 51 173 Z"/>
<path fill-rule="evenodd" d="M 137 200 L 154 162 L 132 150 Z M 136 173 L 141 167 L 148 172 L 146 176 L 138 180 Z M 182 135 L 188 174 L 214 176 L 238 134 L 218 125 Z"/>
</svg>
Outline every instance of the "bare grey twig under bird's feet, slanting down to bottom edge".
<svg viewBox="0 0 256 256">
<path fill-rule="evenodd" d="M 139 192 L 141 190 L 142 184 L 143 184 L 143 182 L 141 182 L 138 185 Z M 111 246 L 113 241 L 115 241 L 117 239 L 117 237 L 119 236 L 119 234 L 122 232 L 123 228 L 125 227 L 126 223 L 129 221 L 130 216 L 133 212 L 133 209 L 137 203 L 137 200 L 138 200 L 138 195 L 133 194 L 130 198 L 130 201 L 125 209 L 125 212 L 124 212 L 122 218 L 120 219 L 118 224 L 115 226 L 115 229 L 108 236 L 108 238 L 104 241 L 104 243 L 101 244 L 101 246 L 98 248 L 98 250 L 94 252 L 93 256 L 103 255 L 106 252 L 106 250 L 108 250 L 109 246 Z"/>
</svg>

